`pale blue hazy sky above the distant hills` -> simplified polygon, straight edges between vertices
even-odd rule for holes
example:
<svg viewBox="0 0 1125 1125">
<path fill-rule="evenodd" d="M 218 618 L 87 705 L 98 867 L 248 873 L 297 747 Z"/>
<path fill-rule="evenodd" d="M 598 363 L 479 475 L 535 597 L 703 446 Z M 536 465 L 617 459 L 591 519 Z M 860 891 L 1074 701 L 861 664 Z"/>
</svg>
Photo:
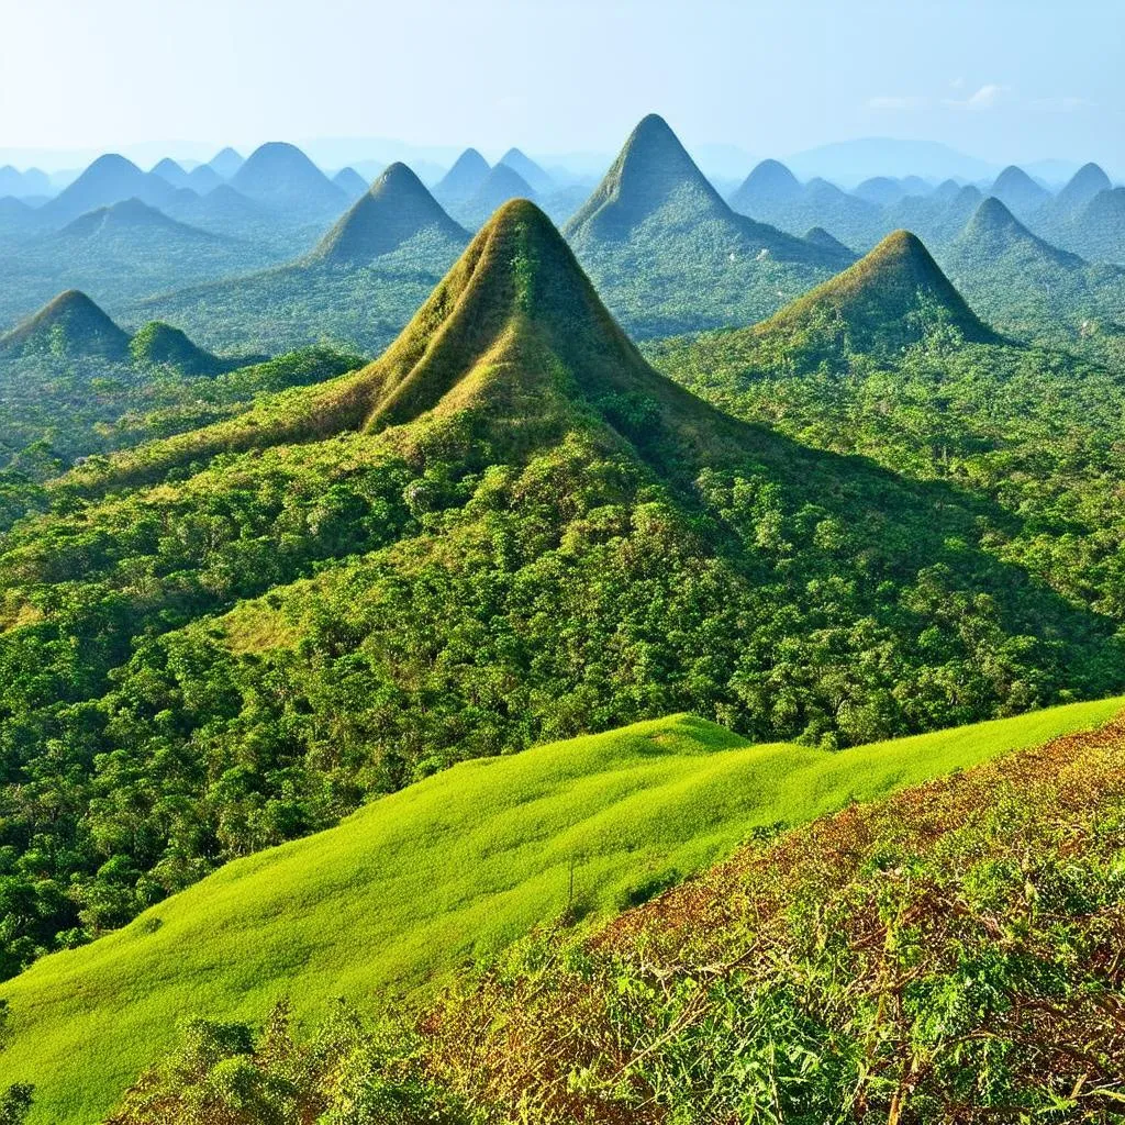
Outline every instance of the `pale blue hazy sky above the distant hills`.
<svg viewBox="0 0 1125 1125">
<path fill-rule="evenodd" d="M 395 137 L 762 156 L 889 136 L 1125 173 L 1123 0 L 0 0 L 0 150 Z M 155 148 L 153 150 L 155 151 Z"/>
</svg>

